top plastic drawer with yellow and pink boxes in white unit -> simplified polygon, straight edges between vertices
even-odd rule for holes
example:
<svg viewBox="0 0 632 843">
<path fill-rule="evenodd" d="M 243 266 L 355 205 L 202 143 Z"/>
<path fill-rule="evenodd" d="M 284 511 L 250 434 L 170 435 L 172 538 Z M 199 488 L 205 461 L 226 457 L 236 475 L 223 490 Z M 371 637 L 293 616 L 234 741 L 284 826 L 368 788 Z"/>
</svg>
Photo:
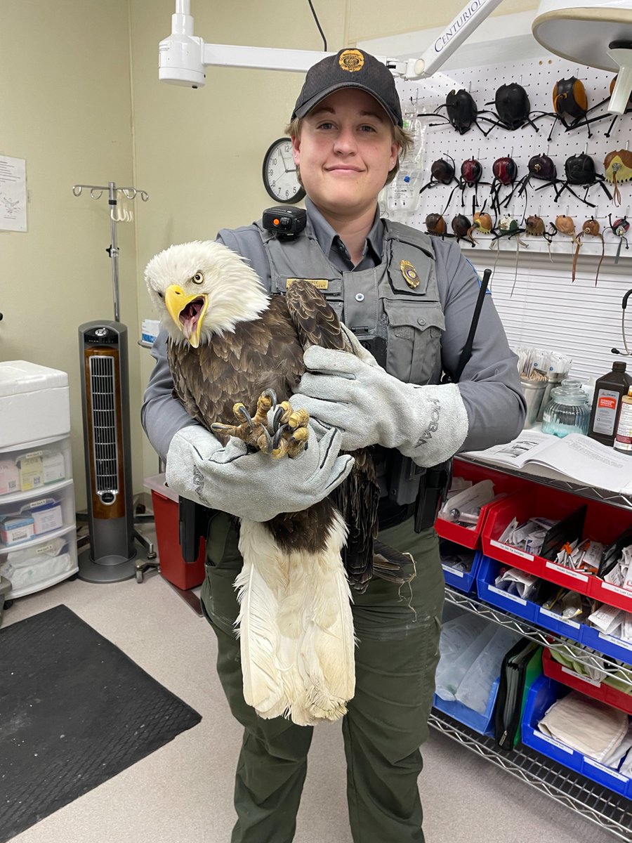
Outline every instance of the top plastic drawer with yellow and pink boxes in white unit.
<svg viewBox="0 0 632 843">
<path fill-rule="evenodd" d="M 0 506 L 31 494 L 52 494 L 72 477 L 70 439 L 40 439 L 13 450 L 0 448 Z"/>
</svg>

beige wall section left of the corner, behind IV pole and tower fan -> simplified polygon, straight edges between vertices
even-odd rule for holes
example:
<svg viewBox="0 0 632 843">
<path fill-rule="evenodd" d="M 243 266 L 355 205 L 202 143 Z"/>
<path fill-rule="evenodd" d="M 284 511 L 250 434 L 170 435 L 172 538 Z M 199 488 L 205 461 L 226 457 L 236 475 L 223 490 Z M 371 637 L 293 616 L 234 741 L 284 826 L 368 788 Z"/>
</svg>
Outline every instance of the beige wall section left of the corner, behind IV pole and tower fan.
<svg viewBox="0 0 632 843">
<path fill-rule="evenodd" d="M 132 180 L 127 0 L 0 0 L 0 153 L 26 159 L 28 231 L 0 232 L 0 359 L 67 372 L 78 507 L 85 503 L 78 325 L 113 319 L 107 201 L 78 182 Z M 119 226 L 121 319 L 139 412 L 133 231 Z M 135 453 L 141 441 L 132 425 Z M 137 474 L 141 473 L 136 459 Z"/>
</svg>

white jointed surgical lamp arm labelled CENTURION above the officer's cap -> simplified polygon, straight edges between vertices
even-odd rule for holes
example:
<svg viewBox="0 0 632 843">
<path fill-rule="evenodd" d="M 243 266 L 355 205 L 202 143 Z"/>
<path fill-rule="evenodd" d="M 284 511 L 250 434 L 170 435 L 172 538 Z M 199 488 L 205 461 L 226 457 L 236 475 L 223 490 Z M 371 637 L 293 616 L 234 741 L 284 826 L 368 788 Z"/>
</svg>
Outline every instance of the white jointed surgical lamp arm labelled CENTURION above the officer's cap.
<svg viewBox="0 0 632 843">
<path fill-rule="evenodd" d="M 406 79 L 431 76 L 502 0 L 469 0 L 437 40 L 420 58 L 402 62 L 376 56 L 393 72 Z M 171 16 L 171 35 L 158 46 L 158 79 L 176 85 L 201 88 L 206 82 L 205 67 L 257 67 L 263 70 L 306 72 L 329 52 L 282 50 L 270 47 L 205 44 L 193 35 L 190 0 L 176 0 Z"/>
</svg>

